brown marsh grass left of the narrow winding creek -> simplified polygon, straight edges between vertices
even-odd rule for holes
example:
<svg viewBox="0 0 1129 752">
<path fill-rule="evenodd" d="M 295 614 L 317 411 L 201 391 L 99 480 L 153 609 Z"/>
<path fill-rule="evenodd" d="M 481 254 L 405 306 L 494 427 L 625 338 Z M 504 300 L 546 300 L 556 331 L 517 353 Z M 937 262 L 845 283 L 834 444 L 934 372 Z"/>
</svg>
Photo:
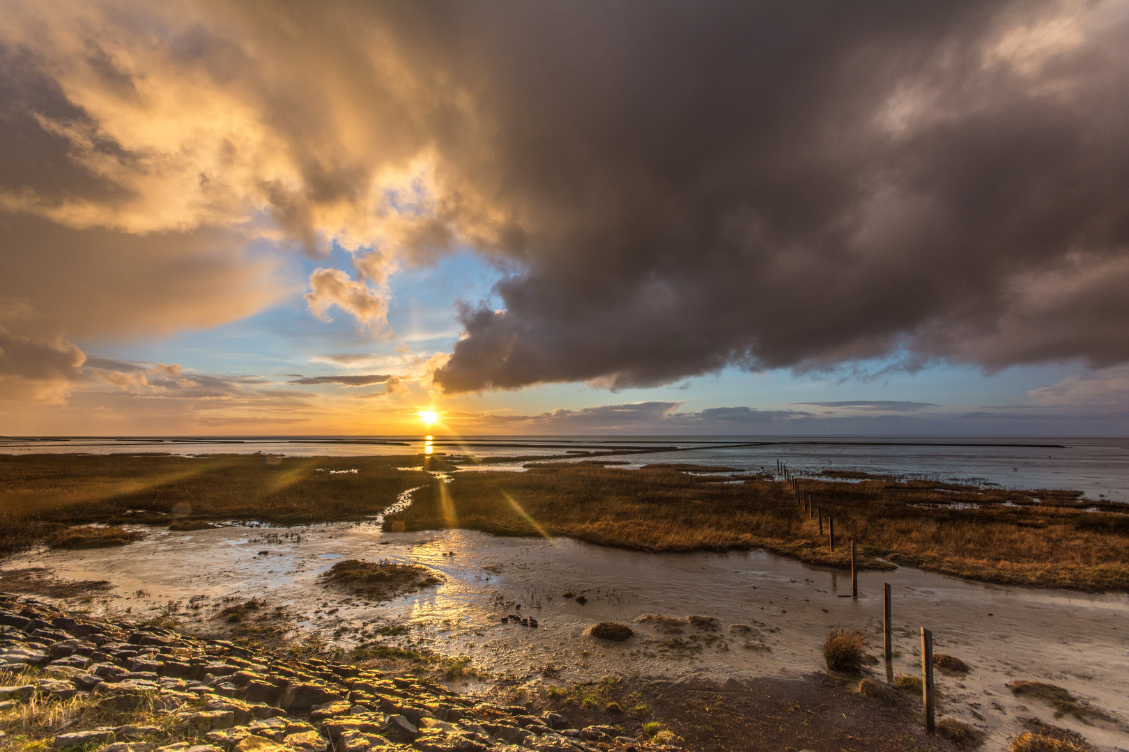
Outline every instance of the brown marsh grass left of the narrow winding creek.
<svg viewBox="0 0 1129 752">
<path fill-rule="evenodd" d="M 397 469 L 422 462 L 414 455 L 0 455 L 0 556 L 44 542 L 65 525 L 91 522 L 185 530 L 209 520 L 364 520 L 428 483 L 426 472 Z M 426 463 L 454 467 L 437 459 Z M 358 472 L 330 472 L 353 468 Z"/>
</svg>

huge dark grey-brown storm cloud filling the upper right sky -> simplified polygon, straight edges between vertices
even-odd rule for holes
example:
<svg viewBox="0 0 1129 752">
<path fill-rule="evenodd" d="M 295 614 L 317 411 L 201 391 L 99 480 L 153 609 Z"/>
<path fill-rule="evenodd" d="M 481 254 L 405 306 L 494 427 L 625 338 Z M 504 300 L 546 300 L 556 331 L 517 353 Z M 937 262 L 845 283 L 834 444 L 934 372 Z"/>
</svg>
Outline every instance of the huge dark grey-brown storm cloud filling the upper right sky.
<svg viewBox="0 0 1129 752">
<path fill-rule="evenodd" d="M 510 9 L 511 10 L 511 9 Z M 453 24 L 520 218 L 450 391 L 907 353 L 1129 357 L 1109 5 L 527 6 Z"/>
</svg>

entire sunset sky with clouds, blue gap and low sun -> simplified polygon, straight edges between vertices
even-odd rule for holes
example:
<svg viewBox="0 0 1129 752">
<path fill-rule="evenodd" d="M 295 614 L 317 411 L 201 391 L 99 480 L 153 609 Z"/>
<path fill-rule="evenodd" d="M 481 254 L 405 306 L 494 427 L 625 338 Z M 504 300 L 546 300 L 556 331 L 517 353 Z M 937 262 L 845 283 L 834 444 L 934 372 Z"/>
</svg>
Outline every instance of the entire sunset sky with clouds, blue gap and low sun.
<svg viewBox="0 0 1129 752">
<path fill-rule="evenodd" d="M 1126 133 L 1126 0 L 11 0 L 0 434 L 1129 435 Z"/>
</svg>

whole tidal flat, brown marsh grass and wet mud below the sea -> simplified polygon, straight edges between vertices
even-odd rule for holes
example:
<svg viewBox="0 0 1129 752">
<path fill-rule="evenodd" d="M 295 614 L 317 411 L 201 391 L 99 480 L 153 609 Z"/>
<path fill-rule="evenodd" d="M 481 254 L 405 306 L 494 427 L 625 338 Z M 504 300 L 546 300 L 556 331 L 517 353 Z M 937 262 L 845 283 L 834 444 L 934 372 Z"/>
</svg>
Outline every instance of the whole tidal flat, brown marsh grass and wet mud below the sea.
<svg viewBox="0 0 1129 752">
<path fill-rule="evenodd" d="M 58 591 L 58 602 L 71 609 L 222 634 L 256 648 L 306 645 L 347 662 L 417 662 L 438 666 L 440 678 L 449 673 L 460 691 L 500 692 L 507 701 L 568 706 L 615 720 L 605 705 L 615 701 L 623 710 L 632 693 L 642 697 L 655 682 L 706 682 L 701 692 L 727 682 L 746 690 L 750 682 L 793 682 L 773 684 L 779 695 L 781 687 L 817 693 L 815 687 L 830 680 L 847 698 L 859 678 L 825 673 L 820 646 L 831 629 L 860 629 L 869 653 L 881 655 L 882 585 L 890 583 L 895 655 L 863 675 L 891 687 L 894 699 L 874 700 L 874 713 L 893 718 L 893 708 L 912 706 L 912 692 L 894 689 L 894 680 L 920 674 L 918 629 L 926 626 L 937 652 L 971 666 L 963 675 L 938 672 L 940 716 L 981 729 L 986 749 L 1017 737 L 1030 726 L 1025 718 L 1074 729 L 1104 749 L 1129 738 L 1129 599 L 1117 584 L 1127 566 L 1126 534 L 1105 522 L 1123 516 L 1117 505 L 1048 492 L 805 479 L 819 505 L 834 510 L 837 536 L 843 542 L 861 538 L 866 568 L 856 599 L 844 558 L 821 550 L 826 541 L 812 531 L 815 521 L 793 489 L 763 477 L 595 465 L 458 472 L 441 458 L 298 463 L 251 455 L 238 462 L 175 458 L 184 466 L 152 458 L 148 467 L 159 474 L 147 478 L 138 458 L 97 459 L 104 466 L 94 477 L 100 480 L 85 486 L 86 495 L 77 474 L 52 481 L 50 468 L 29 465 L 23 475 L 5 476 L 8 514 L 19 515 L 21 494 L 40 499 L 27 507 L 37 516 L 20 524 L 58 530 L 111 522 L 140 534 L 121 547 L 87 550 L 33 540 L 3 561 L 6 573 L 41 570 L 25 578 L 25 592 L 49 580 L 108 583 L 87 593 Z M 112 467 L 117 459 L 124 461 Z M 365 463 L 374 459 L 379 463 Z M 196 472 L 181 486 L 184 478 L 173 470 L 192 462 L 200 462 Z M 20 486 L 14 477 L 34 483 Z M 189 501 L 217 485 L 222 488 L 212 501 Z M 50 503 L 52 487 L 65 503 Z M 100 495 L 91 490 L 97 488 Z M 322 520 L 320 494 L 330 499 Z M 238 514 L 222 513 L 224 498 L 238 504 Z M 900 514 L 895 499 L 904 507 Z M 170 504 L 192 508 L 174 512 Z M 280 517 L 272 520 L 272 505 L 282 510 Z M 298 523 L 296 511 L 314 516 Z M 1079 523 L 1091 519 L 1102 524 Z M 908 520 L 933 531 L 929 556 L 924 533 L 904 533 Z M 185 522 L 213 527 L 169 529 Z M 860 534 L 879 524 L 892 531 L 869 540 Z M 769 534 L 781 530 L 787 534 Z M 905 541 L 899 542 L 899 530 Z M 977 530 L 988 540 L 970 541 Z M 1061 551 L 1040 570 L 1032 561 L 1054 547 L 1022 549 L 1038 534 L 1093 550 L 1082 559 Z M 991 558 L 981 554 L 988 546 L 996 551 Z M 1019 559 L 1025 582 L 1035 587 L 991 582 L 992 572 L 1015 576 L 1015 566 L 1003 566 L 1010 558 Z M 323 577 L 349 559 L 413 565 L 439 576 L 434 586 L 373 601 Z M 952 576 L 957 572 L 975 580 Z M 1053 578 L 1040 582 L 1040 572 Z M 1073 586 L 1053 586 L 1064 581 Z M 252 608 L 239 610 L 248 602 Z M 633 634 L 622 643 L 589 635 L 602 621 Z M 594 692 L 602 676 L 618 676 L 631 691 L 609 685 L 607 697 L 593 700 L 585 692 Z M 1015 696 L 1009 684 L 1016 681 L 1060 687 L 1109 720 L 1059 715 L 1052 705 Z M 884 705 L 895 700 L 902 705 Z M 654 696 L 650 715 L 628 716 L 657 723 L 664 701 Z M 850 711 L 865 715 L 866 708 Z M 714 715 L 721 729 L 716 708 Z M 665 722 L 694 749 L 712 749 L 709 733 L 680 718 Z M 907 719 L 912 725 L 912 714 L 896 723 Z M 849 737 L 849 725 L 842 734 Z M 726 749 L 758 749 L 728 742 Z"/>
</svg>

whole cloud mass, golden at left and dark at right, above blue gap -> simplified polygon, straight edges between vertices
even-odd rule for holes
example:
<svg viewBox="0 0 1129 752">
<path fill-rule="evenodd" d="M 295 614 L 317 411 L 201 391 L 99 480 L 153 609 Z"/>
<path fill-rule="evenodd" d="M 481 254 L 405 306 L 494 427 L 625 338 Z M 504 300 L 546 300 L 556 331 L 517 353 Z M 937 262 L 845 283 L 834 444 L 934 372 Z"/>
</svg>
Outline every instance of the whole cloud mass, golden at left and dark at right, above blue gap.
<svg viewBox="0 0 1129 752">
<path fill-rule="evenodd" d="M 1118 2 L 17 2 L 0 65 L 40 347 L 259 310 L 268 238 L 353 253 L 307 302 L 374 333 L 492 260 L 450 392 L 1129 360 Z"/>
</svg>

